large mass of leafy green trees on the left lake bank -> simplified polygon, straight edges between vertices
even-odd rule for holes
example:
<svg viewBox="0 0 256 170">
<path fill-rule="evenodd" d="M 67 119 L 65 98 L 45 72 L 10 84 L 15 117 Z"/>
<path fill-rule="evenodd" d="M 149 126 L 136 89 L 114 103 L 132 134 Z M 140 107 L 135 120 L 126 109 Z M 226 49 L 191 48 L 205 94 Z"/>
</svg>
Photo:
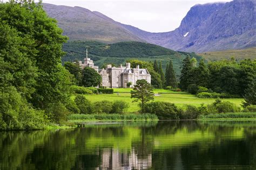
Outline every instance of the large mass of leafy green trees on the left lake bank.
<svg viewBox="0 0 256 170">
<path fill-rule="evenodd" d="M 71 74 L 61 64 L 68 39 L 40 3 L 0 3 L 0 129 L 43 129 L 70 110 Z"/>
</svg>

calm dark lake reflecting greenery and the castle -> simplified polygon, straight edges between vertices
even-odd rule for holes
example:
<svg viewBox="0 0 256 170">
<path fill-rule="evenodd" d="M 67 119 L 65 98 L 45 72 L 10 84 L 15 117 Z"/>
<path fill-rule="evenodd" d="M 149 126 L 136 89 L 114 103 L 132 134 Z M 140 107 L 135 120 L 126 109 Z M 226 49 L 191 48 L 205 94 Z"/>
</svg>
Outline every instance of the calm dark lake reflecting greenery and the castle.
<svg viewBox="0 0 256 170">
<path fill-rule="evenodd" d="M 256 169 L 256 122 L 0 132 L 0 169 Z"/>
</svg>

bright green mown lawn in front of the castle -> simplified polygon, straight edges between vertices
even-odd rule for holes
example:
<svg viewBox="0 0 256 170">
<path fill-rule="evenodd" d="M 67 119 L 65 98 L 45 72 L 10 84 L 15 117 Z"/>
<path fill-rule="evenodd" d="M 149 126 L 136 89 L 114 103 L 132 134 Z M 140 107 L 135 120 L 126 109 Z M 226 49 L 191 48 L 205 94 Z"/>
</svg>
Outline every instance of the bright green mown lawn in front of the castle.
<svg viewBox="0 0 256 170">
<path fill-rule="evenodd" d="M 132 102 L 133 99 L 130 98 L 131 96 L 130 93 L 124 93 L 124 92 L 129 92 L 131 89 L 114 89 L 114 90 L 115 92 L 118 91 L 119 93 L 101 94 L 101 95 L 85 95 L 85 97 L 91 102 L 102 101 L 102 100 L 107 100 L 107 101 L 122 100 L 130 104 L 129 112 L 134 112 L 139 110 L 138 103 Z M 164 91 L 164 90 L 154 90 L 154 93 L 164 93 L 160 91 Z M 184 107 L 184 104 L 191 104 L 198 107 L 201 103 L 211 104 L 215 101 L 214 98 L 208 98 L 208 99 L 197 98 L 195 95 L 186 94 L 183 92 L 175 92 L 175 93 L 176 94 L 160 94 L 160 96 L 154 97 L 154 101 L 175 103 L 178 105 L 178 107 Z M 240 107 L 240 104 L 243 100 L 244 99 L 242 98 L 223 99 L 223 101 L 230 101 L 232 103 L 235 103 L 238 107 Z"/>
</svg>

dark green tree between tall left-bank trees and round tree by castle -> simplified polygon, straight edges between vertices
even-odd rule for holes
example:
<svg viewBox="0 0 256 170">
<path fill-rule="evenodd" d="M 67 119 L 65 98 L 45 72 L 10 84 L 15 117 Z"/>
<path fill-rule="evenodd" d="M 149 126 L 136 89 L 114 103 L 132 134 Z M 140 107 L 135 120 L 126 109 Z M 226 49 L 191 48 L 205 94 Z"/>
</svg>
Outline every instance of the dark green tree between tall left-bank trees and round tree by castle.
<svg viewBox="0 0 256 170">
<path fill-rule="evenodd" d="M 64 67 L 75 77 L 76 85 L 80 86 L 82 83 L 82 69 L 79 65 L 73 62 L 65 62 Z"/>
</svg>

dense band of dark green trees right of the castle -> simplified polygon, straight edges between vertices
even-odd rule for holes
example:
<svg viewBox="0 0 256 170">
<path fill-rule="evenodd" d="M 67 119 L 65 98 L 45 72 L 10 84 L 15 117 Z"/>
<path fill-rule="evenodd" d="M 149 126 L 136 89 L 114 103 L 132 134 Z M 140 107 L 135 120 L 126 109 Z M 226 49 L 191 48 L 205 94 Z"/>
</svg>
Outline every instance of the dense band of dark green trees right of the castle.
<svg viewBox="0 0 256 170">
<path fill-rule="evenodd" d="M 256 78 L 256 60 L 220 60 L 207 64 L 200 60 L 187 57 L 183 60 L 179 87 L 196 94 L 201 92 L 215 92 L 231 96 L 242 97 L 246 90 L 254 84 Z"/>
</svg>

